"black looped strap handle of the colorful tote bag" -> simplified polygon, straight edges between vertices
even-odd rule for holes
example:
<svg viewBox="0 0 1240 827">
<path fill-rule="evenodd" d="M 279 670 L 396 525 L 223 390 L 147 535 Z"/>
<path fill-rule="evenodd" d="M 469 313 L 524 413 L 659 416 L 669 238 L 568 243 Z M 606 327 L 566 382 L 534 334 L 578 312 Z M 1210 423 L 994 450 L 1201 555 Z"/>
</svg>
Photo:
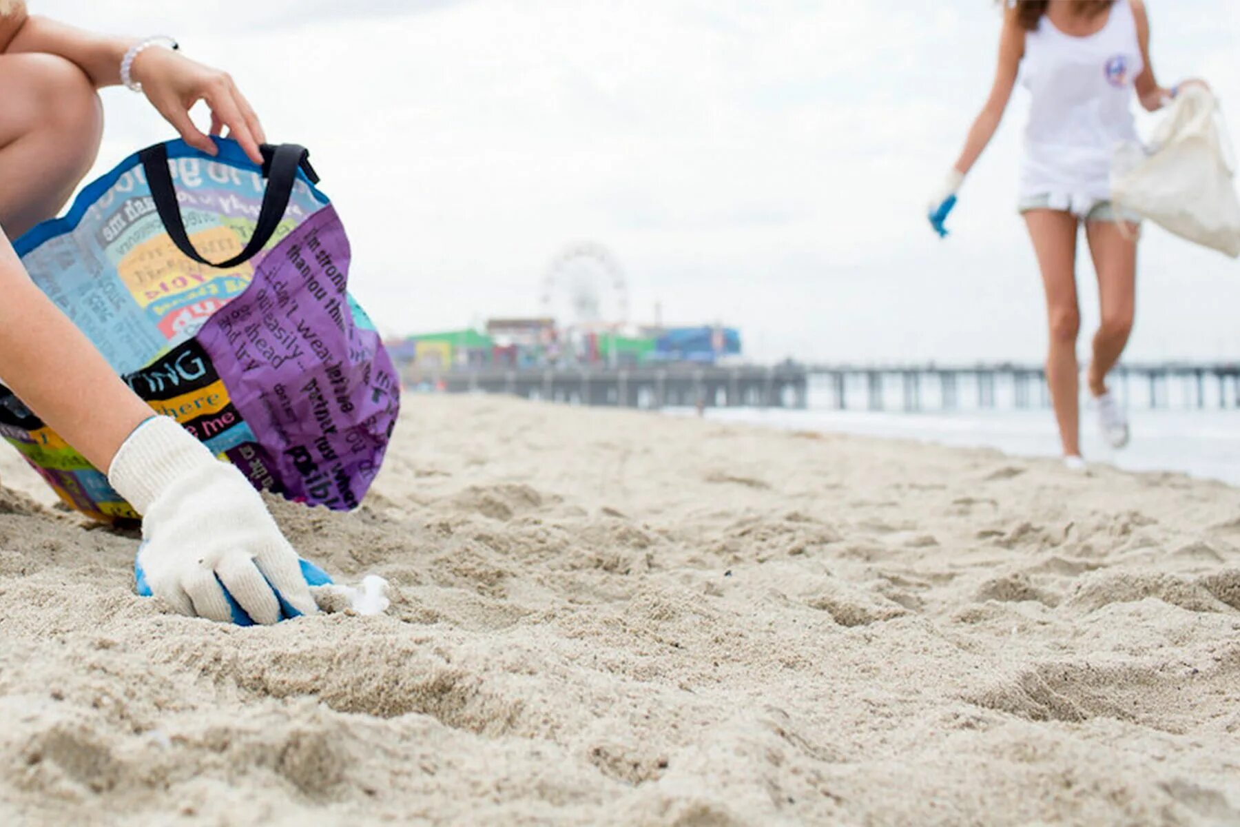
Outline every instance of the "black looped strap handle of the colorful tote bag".
<svg viewBox="0 0 1240 827">
<path fill-rule="evenodd" d="M 195 262 L 219 269 L 248 262 L 267 247 L 267 242 L 272 241 L 272 236 L 280 226 L 284 210 L 289 206 L 289 198 L 293 196 L 293 184 L 298 179 L 298 169 L 300 167 L 306 174 L 311 184 L 319 184 L 319 175 L 310 166 L 310 153 L 305 146 L 263 144 L 259 150 L 263 153 L 263 177 L 267 179 L 267 192 L 263 193 L 263 206 L 258 211 L 258 223 L 254 224 L 254 234 L 250 236 L 244 249 L 227 262 L 208 262 L 190 242 L 190 236 L 185 231 L 185 221 L 181 218 L 181 205 L 176 200 L 172 174 L 167 166 L 167 146 L 155 144 L 138 154 L 143 169 L 146 171 L 146 185 L 151 190 L 151 198 L 155 201 L 155 210 L 159 212 L 160 221 L 164 222 L 164 228 L 177 249 Z"/>
</svg>

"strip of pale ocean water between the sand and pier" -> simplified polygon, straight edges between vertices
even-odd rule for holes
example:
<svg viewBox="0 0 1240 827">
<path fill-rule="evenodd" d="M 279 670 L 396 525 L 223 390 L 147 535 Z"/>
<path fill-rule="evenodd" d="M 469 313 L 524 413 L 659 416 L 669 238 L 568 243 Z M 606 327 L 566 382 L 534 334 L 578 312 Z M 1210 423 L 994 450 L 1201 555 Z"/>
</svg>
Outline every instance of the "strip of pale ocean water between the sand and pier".
<svg viewBox="0 0 1240 827">
<path fill-rule="evenodd" d="M 812 398 L 811 398 L 812 404 Z M 671 410 L 694 415 L 692 409 Z M 711 408 L 720 422 L 743 422 L 789 430 L 895 436 L 942 445 L 996 448 L 1018 456 L 1059 456 L 1059 435 L 1049 409 L 961 410 L 957 413 L 882 413 Z M 1240 410 L 1130 409 L 1132 440 L 1121 450 L 1097 434 L 1091 409 L 1081 410 L 1081 453 L 1132 471 L 1182 471 L 1240 485 Z"/>
</svg>

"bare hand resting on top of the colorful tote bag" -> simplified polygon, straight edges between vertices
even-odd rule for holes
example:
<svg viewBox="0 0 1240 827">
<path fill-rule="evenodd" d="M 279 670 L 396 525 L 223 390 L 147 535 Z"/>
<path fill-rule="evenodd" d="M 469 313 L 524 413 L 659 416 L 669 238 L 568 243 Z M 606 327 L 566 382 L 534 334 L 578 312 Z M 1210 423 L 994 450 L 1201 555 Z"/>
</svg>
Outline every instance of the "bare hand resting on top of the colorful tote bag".
<svg viewBox="0 0 1240 827">
<path fill-rule="evenodd" d="M 258 145 L 267 143 L 263 125 L 249 102 L 237 89 L 233 79 L 219 69 L 203 66 L 169 48 L 151 47 L 134 60 L 133 78 L 164 118 L 181 133 L 185 143 L 208 155 L 216 154 L 215 141 L 193 124 L 190 109 L 198 100 L 211 108 L 211 134 L 219 135 L 224 126 L 246 155 L 255 164 L 263 162 Z"/>
</svg>

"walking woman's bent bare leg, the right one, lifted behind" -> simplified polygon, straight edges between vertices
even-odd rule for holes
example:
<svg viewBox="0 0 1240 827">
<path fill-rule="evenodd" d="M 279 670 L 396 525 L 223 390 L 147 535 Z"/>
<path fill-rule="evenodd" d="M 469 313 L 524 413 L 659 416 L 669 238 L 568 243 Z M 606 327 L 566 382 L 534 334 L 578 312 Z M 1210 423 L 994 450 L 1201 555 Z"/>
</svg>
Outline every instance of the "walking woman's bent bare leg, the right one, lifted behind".
<svg viewBox="0 0 1240 827">
<path fill-rule="evenodd" d="M 1132 332 L 1136 311 L 1137 226 L 1110 221 L 1085 223 L 1090 255 L 1097 272 L 1101 322 L 1094 334 L 1094 356 L 1089 366 L 1089 389 L 1095 397 L 1106 393 L 1106 374 L 1120 361 Z"/>
</svg>

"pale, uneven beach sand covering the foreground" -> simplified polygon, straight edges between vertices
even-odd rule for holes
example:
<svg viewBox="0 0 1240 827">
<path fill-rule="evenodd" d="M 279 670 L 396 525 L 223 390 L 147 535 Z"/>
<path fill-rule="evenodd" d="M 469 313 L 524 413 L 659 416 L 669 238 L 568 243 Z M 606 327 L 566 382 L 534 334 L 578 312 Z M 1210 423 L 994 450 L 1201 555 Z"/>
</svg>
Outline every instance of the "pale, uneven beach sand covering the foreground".
<svg viewBox="0 0 1240 827">
<path fill-rule="evenodd" d="M 1223 484 L 410 396 L 274 507 L 388 611 L 171 615 L 0 493 L 0 823 L 1240 823 Z"/>
</svg>

